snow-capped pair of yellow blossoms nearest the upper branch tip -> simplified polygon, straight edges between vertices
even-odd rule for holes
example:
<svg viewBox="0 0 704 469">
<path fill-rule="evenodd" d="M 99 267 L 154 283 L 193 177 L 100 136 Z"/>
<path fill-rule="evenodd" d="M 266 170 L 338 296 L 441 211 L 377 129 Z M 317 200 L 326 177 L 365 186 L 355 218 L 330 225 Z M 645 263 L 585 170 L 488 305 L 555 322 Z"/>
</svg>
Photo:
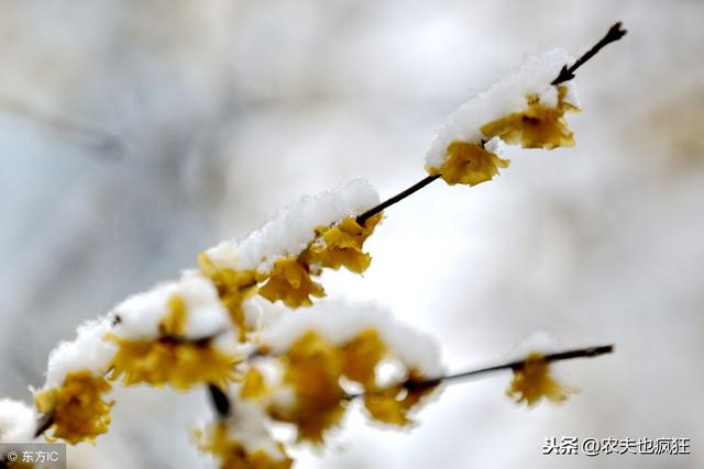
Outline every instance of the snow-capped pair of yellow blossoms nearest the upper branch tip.
<svg viewBox="0 0 704 469">
<path fill-rule="evenodd" d="M 574 136 L 564 114 L 579 107 L 571 81 L 550 85 L 556 70 L 572 60 L 563 49 L 529 57 L 513 74 L 475 93 L 438 130 L 426 156 L 426 170 L 449 185 L 475 186 L 507 168 L 502 147 L 569 147 Z"/>
</svg>

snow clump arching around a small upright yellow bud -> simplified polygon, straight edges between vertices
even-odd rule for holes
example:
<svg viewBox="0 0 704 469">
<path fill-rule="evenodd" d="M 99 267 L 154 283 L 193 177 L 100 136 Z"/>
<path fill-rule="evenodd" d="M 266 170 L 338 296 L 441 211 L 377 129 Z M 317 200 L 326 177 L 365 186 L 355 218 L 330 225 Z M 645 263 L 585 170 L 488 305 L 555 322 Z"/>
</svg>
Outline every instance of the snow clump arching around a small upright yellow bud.
<svg viewBox="0 0 704 469">
<path fill-rule="evenodd" d="M 179 280 L 160 283 L 118 304 L 110 313 L 116 323 L 112 333 L 134 340 L 157 338 L 173 295 L 178 295 L 186 306 L 186 338 L 219 335 L 231 327 L 228 311 L 212 282 L 197 271 L 187 270 Z"/>
</svg>

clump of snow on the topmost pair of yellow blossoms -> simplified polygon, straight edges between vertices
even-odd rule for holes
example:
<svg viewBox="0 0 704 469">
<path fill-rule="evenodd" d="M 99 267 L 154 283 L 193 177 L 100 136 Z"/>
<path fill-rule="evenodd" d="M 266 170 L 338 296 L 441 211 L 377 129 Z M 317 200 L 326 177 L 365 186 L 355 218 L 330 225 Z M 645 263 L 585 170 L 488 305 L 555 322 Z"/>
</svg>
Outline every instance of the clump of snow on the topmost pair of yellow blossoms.
<svg viewBox="0 0 704 469">
<path fill-rule="evenodd" d="M 527 57 L 515 71 L 506 74 L 487 90 L 473 93 L 444 121 L 426 153 L 426 164 L 439 168 L 447 157 L 448 146 L 455 141 L 479 144 L 486 139 L 480 130 L 490 122 L 526 109 L 526 97 L 537 94 L 547 107 L 557 107 L 558 90 L 550 82 L 558 76 L 563 65 L 571 64 L 573 57 L 558 48 Z M 565 101 L 578 105 L 574 86 L 571 81 L 561 83 L 568 89 Z"/>
</svg>

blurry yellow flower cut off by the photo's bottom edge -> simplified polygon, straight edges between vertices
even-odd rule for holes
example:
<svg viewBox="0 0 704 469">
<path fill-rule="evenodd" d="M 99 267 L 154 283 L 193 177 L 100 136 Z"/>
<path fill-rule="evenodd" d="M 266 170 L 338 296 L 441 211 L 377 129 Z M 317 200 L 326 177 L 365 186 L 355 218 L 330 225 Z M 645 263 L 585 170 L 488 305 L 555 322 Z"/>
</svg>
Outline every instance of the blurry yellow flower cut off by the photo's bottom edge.
<svg viewBox="0 0 704 469">
<path fill-rule="evenodd" d="M 218 423 L 206 432 L 197 432 L 196 438 L 201 450 L 220 459 L 220 469 L 289 469 L 294 461 L 284 453 L 282 459 L 272 458 L 266 451 L 258 449 L 248 453 L 244 446 L 228 435 L 224 423 Z"/>
</svg>

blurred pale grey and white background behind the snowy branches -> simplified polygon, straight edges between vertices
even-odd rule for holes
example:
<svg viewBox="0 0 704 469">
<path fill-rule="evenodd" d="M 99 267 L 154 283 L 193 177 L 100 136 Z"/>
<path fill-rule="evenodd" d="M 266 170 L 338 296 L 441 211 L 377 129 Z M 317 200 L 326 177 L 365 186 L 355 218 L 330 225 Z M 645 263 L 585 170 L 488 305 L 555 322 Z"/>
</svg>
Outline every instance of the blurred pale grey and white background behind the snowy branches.
<svg viewBox="0 0 704 469">
<path fill-rule="evenodd" d="M 78 323 L 306 193 L 420 179 L 443 116 L 526 54 L 575 55 L 574 149 L 513 150 L 476 188 L 388 210 L 360 279 L 451 370 L 547 330 L 581 394 L 527 410 L 508 375 L 453 386 L 411 431 L 352 410 L 297 468 L 704 466 L 704 2 L 0 0 L 0 395 L 30 400 Z M 556 70 L 557 72 L 558 70 Z M 205 392 L 118 390 L 74 468 L 207 467 Z M 691 438 L 692 456 L 542 456 L 546 437 Z"/>
</svg>

